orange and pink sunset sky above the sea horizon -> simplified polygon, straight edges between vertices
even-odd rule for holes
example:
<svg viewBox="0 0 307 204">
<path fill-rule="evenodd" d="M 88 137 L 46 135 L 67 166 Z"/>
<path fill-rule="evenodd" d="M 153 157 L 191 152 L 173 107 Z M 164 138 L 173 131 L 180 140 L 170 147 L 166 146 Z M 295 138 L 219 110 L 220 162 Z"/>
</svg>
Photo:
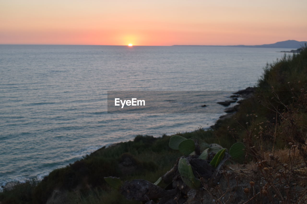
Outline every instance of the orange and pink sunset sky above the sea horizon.
<svg viewBox="0 0 307 204">
<path fill-rule="evenodd" d="M 307 41 L 306 0 L 0 0 L 0 44 Z"/>
</svg>

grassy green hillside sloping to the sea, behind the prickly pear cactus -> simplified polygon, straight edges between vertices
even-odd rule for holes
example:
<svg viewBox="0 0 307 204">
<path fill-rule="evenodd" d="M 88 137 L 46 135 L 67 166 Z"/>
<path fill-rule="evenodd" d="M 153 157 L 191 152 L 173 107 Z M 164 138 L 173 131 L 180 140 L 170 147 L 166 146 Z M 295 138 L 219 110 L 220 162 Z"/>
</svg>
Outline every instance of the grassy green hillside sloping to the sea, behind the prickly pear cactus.
<svg viewBox="0 0 307 204">
<path fill-rule="evenodd" d="M 304 48 L 293 57 L 285 56 L 266 65 L 254 96 L 215 130 L 200 129 L 179 135 L 218 143 L 228 149 L 235 142 L 243 142 L 247 147 L 245 164 L 265 160 L 268 153 L 274 154 L 278 149 L 288 148 L 290 154 L 294 148 L 299 153 L 300 164 L 291 163 L 291 169 L 307 165 L 306 86 L 307 49 Z M 139 203 L 127 201 L 103 177 L 155 182 L 181 156 L 169 148 L 169 138 L 138 135 L 134 141 L 101 148 L 74 164 L 52 171 L 40 182 L 29 180 L 0 193 L 1 204 L 46 203 L 51 197 L 57 203 Z M 294 177 L 290 174 L 289 180 Z M 300 183 L 305 185 L 302 180 Z"/>
</svg>

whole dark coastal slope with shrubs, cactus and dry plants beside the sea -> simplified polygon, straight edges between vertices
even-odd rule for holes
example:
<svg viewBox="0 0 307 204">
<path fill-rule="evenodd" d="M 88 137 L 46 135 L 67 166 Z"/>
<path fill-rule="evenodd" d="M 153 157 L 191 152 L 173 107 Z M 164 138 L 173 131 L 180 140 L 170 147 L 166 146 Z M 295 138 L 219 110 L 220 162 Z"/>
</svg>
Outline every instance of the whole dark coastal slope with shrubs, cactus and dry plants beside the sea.
<svg viewBox="0 0 307 204">
<path fill-rule="evenodd" d="M 270 186 L 277 189 L 281 195 L 285 195 L 289 193 L 290 185 L 294 192 L 288 194 L 291 196 L 289 198 L 293 201 L 302 198 L 307 192 L 302 191 L 307 181 L 302 182 L 301 179 L 306 178 L 306 167 L 301 164 L 307 164 L 306 128 L 302 129 L 307 127 L 304 105 L 307 103 L 305 91 L 307 77 L 304 66 L 306 56 L 307 50 L 304 49 L 299 55 L 284 57 L 273 65 L 266 66 L 264 75 L 252 91 L 255 93 L 247 94 L 251 97 L 243 100 L 237 107 L 235 116 L 223 119 L 214 130 L 200 128 L 193 132 L 178 133 L 174 138 L 184 138 L 181 142 L 186 141 L 184 146 L 181 142 L 177 143 L 178 148 L 182 146 L 185 149 L 188 147 L 187 144 L 193 142 L 195 146 L 192 154 L 190 150 L 184 153 L 180 149 L 176 151 L 175 147 L 171 147 L 170 136 L 154 138 L 137 135 L 133 141 L 100 148 L 73 164 L 55 169 L 40 182 L 28 181 L 17 184 L 11 191 L 0 193 L 1 203 L 12 203 L 10 201 L 16 198 L 20 199 L 18 203 L 35 204 L 87 204 L 89 201 L 131 204 L 146 201 L 153 204 L 158 200 L 162 204 L 174 202 L 174 196 L 182 204 L 195 203 L 193 201 L 200 199 L 210 203 L 212 199 L 219 199 L 219 196 L 206 193 L 204 188 L 207 192 L 210 192 L 211 188 L 219 188 L 222 192 L 221 198 L 226 196 L 226 199 L 231 200 L 230 203 L 247 203 L 250 200 L 246 197 L 249 192 L 254 192 L 250 197 L 254 197 L 255 202 L 269 203 L 270 200 L 263 200 L 263 196 L 257 197 L 257 195 L 260 193 L 274 195 Z M 289 67 L 296 67 L 295 73 Z M 285 72 L 291 75 L 280 74 Z M 296 90 L 297 92 L 293 92 Z M 301 117 L 297 117 L 298 115 Z M 237 150 L 232 150 L 234 145 L 239 145 Z M 204 150 L 200 150 L 201 146 Z M 219 150 L 214 150 L 215 147 Z M 238 151 L 240 153 L 236 157 Z M 205 154 L 207 156 L 199 158 L 203 153 L 207 153 Z M 289 157 L 290 153 L 293 153 L 293 157 Z M 233 156 L 231 161 L 234 164 L 225 163 L 230 159 L 229 155 Z M 181 168 L 180 160 L 189 162 L 182 163 L 181 166 L 185 168 L 187 165 L 190 168 L 188 175 L 184 174 L 185 171 L 181 171 L 183 169 L 179 170 L 178 174 L 177 170 Z M 269 166 L 267 161 L 270 161 Z M 203 168 L 204 165 L 199 164 L 210 165 L 209 168 Z M 288 171 L 288 167 L 299 171 Z M 268 174 L 259 174 L 259 170 Z M 275 175 L 281 173 L 285 174 L 287 179 L 281 178 L 278 183 L 270 182 L 276 179 Z M 110 185 L 114 187 L 111 188 L 106 178 L 115 180 L 117 185 L 111 183 Z M 194 184 L 191 185 L 185 178 L 191 178 L 193 182 L 198 181 L 199 185 L 193 186 Z M 228 191 L 228 182 L 232 182 L 230 186 L 234 187 L 235 196 Z M 133 186 L 137 192 L 128 189 Z M 253 191 L 248 189 L 249 186 L 253 187 Z M 239 191 L 236 190 L 237 187 Z M 153 195 L 152 188 L 170 194 Z M 94 191 L 95 194 L 92 193 Z M 141 195 L 138 192 L 141 192 Z M 132 199 L 137 201 L 131 201 Z"/>
</svg>

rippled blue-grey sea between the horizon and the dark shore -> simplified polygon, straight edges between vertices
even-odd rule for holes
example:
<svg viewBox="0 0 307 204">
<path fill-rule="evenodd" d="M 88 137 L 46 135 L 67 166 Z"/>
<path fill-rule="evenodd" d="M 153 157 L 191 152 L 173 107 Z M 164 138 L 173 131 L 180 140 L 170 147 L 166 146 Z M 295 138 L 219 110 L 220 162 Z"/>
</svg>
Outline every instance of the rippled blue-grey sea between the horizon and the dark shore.
<svg viewBox="0 0 307 204">
<path fill-rule="evenodd" d="M 138 134 L 207 128 L 223 113 L 216 102 L 255 85 L 266 62 L 284 55 L 281 50 L 0 45 L 0 185 L 42 178 Z M 107 91 L 208 91 L 191 106 L 210 104 L 206 108 L 215 111 L 110 114 Z"/>
</svg>

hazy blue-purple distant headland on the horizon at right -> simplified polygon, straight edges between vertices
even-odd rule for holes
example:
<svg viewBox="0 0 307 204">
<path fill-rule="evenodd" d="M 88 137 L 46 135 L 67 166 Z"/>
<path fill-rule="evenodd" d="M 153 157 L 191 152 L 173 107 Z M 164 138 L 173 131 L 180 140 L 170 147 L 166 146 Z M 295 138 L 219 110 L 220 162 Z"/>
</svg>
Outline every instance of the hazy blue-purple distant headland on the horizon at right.
<svg viewBox="0 0 307 204">
<path fill-rule="evenodd" d="M 264 48 L 301 48 L 307 41 L 286 40 L 263 45 L 173 45 L 173 46 L 221 46 L 221 47 L 264 47 Z"/>
</svg>

